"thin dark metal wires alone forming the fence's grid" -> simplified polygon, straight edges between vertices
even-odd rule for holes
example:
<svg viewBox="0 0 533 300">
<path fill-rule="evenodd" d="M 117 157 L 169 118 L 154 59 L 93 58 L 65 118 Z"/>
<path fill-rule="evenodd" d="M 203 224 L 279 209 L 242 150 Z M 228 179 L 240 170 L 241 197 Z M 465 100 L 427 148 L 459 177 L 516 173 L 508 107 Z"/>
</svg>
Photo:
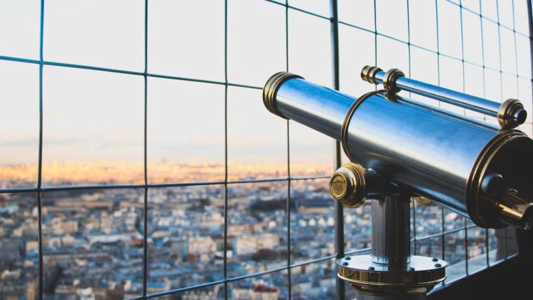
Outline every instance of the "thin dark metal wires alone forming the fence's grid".
<svg viewBox="0 0 533 300">
<path fill-rule="evenodd" d="M 364 27 L 359 27 L 357 25 L 352 25 L 349 22 L 343 22 L 342 20 L 339 20 L 338 15 L 338 3 L 337 0 L 330 0 L 330 16 L 321 15 L 318 13 L 313 13 L 311 11 L 306 11 L 302 8 L 298 8 L 295 6 L 290 6 L 288 3 L 288 0 L 285 0 L 283 2 L 278 2 L 274 0 L 264 0 L 271 4 L 277 4 L 280 6 L 285 7 L 285 55 L 286 55 L 286 70 L 289 70 L 289 11 L 299 11 L 302 13 L 306 13 L 308 15 L 312 15 L 316 18 L 321 18 L 324 20 L 330 21 L 331 26 L 331 54 L 332 54 L 332 81 L 333 86 L 336 90 L 339 90 L 339 24 L 346 25 L 348 27 L 353 27 L 356 29 L 363 30 L 365 32 L 370 32 L 372 34 L 375 34 L 375 64 L 377 64 L 377 36 L 382 36 L 387 39 L 392 39 L 395 41 L 399 41 L 400 43 L 407 44 L 408 47 L 408 53 L 409 53 L 409 66 L 411 67 L 411 47 L 419 48 L 421 50 L 426 50 L 430 53 L 435 53 L 440 57 L 440 55 L 444 57 L 448 57 L 454 60 L 459 60 L 462 62 L 463 65 L 463 81 L 464 81 L 464 64 L 467 62 L 464 60 L 464 43 L 463 43 L 463 32 L 462 32 L 462 13 L 464 11 L 468 11 L 469 13 L 473 13 L 475 15 L 479 15 L 480 21 L 481 21 L 481 39 L 483 43 L 483 20 L 487 20 L 490 22 L 493 22 L 498 25 L 499 31 L 501 28 L 511 30 L 514 34 L 515 39 L 515 51 L 516 51 L 516 36 L 525 36 L 529 39 L 530 45 L 533 48 L 533 22 L 532 22 L 532 1 L 527 1 L 527 7 L 528 7 L 528 16 L 529 16 L 529 36 L 526 34 L 523 34 L 522 32 L 516 32 L 515 30 L 515 15 L 514 15 L 514 6 L 513 6 L 513 28 L 509 28 L 505 25 L 501 25 L 499 22 L 499 12 L 497 14 L 497 20 L 492 20 L 490 18 L 487 18 L 485 15 L 481 12 L 481 5 L 482 1 L 480 1 L 480 12 L 477 13 L 475 11 L 472 11 L 469 8 L 465 8 L 461 4 L 457 4 L 450 0 L 445 0 L 451 4 L 454 4 L 456 6 L 459 6 L 459 12 L 461 13 L 461 57 L 453 57 L 451 55 L 445 55 L 444 53 L 440 53 L 439 51 L 439 44 L 438 44 L 438 0 L 436 0 L 436 22 L 437 22 L 437 49 L 438 50 L 431 50 L 428 48 L 425 48 L 423 46 L 418 46 L 416 44 L 411 43 L 411 37 L 410 37 L 410 17 L 409 17 L 409 1 L 405 0 L 407 2 L 407 43 L 405 41 L 396 39 L 393 36 L 388 36 L 386 34 L 382 34 L 382 32 L 379 32 L 377 29 L 377 6 L 376 6 L 376 0 L 374 1 L 374 29 L 367 29 Z M 499 0 L 501 1 L 501 0 Z M 44 40 L 44 9 L 45 9 L 45 1 L 40 1 L 40 27 L 39 27 L 39 60 L 32 60 L 27 59 L 24 57 L 11 57 L 11 56 L 1 56 L 0 60 L 4 61 L 12 61 L 12 62 L 22 62 L 22 63 L 29 63 L 29 64 L 39 64 L 39 151 L 38 151 L 38 173 L 37 173 L 37 180 L 36 180 L 36 186 L 33 188 L 22 188 L 22 189 L 0 189 L 1 193 L 36 193 L 36 207 L 38 210 L 38 242 L 39 242 L 39 299 L 43 299 L 43 245 L 42 245 L 42 203 L 41 203 L 41 193 L 46 193 L 50 191 L 79 191 L 79 190 L 95 190 L 95 189 L 143 189 L 144 190 L 144 212 L 143 212 L 143 219 L 144 219 L 144 247 L 143 247 L 143 291 L 142 296 L 135 297 L 133 299 L 149 299 L 154 298 L 157 296 L 163 296 L 168 294 L 175 294 L 178 292 L 185 292 L 188 290 L 193 289 L 199 289 L 202 287 L 210 287 L 213 285 L 224 285 L 224 298 L 228 298 L 228 282 L 234 282 L 237 280 L 243 280 L 245 278 L 252 278 L 259 275 L 266 275 L 269 273 L 274 273 L 276 271 L 287 271 L 288 272 L 288 290 L 289 290 L 289 296 L 292 295 L 291 292 L 291 282 L 290 282 L 290 271 L 292 268 L 296 268 L 299 266 L 305 266 L 308 264 L 315 264 L 321 261 L 327 261 L 328 259 L 334 259 L 334 258 L 340 258 L 344 257 L 345 254 L 357 254 L 361 252 L 367 252 L 370 251 L 370 248 L 365 249 L 359 249 L 359 250 L 353 250 L 345 253 L 344 250 L 344 214 L 342 210 L 342 206 L 335 205 L 335 217 L 336 217 L 336 224 L 335 224 L 335 254 L 329 255 L 327 257 L 321 257 L 318 259 L 309 259 L 307 261 L 298 262 L 295 264 L 292 264 L 291 260 L 291 245 L 290 245 L 290 192 L 291 192 L 291 183 L 293 181 L 297 180 L 309 180 L 309 179 L 325 179 L 329 176 L 311 176 L 311 177 L 292 177 L 290 174 L 290 122 L 287 121 L 286 126 L 286 132 L 287 132 L 287 166 L 288 166 L 288 176 L 287 177 L 278 177 L 278 178 L 265 178 L 265 179 L 240 179 L 240 180 L 229 180 L 228 177 L 228 153 L 227 153 L 227 135 L 228 135 L 228 127 L 227 127 L 227 101 L 228 101 L 228 95 L 227 91 L 230 86 L 232 87 L 240 87 L 240 88 L 252 88 L 255 90 L 261 90 L 262 87 L 260 86 L 250 86 L 250 85 L 244 85 L 240 83 L 231 83 L 228 80 L 228 62 L 227 62 L 227 34 L 228 34 L 228 4 L 227 0 L 224 0 L 224 81 L 210 81 L 210 80 L 204 80 L 204 79 L 195 79 L 195 78 L 188 78 L 188 77 L 180 77 L 180 76 L 171 76 L 171 75 L 165 75 L 165 74 L 151 74 L 148 72 L 148 0 L 144 0 L 144 71 L 130 71 L 130 70 L 124 70 L 124 69 L 110 69 L 105 67 L 98 67 L 98 66 L 90 66 L 90 65 L 83 65 L 83 64 L 69 64 L 69 63 L 63 63 L 63 62 L 51 62 L 46 61 L 43 58 L 43 40 Z M 500 45 L 501 48 L 501 45 Z M 482 55 L 483 55 L 483 64 L 476 64 L 473 62 L 468 62 L 468 64 L 473 64 L 478 67 L 483 67 L 483 69 L 490 69 L 492 71 L 497 71 L 500 74 L 500 81 L 502 80 L 503 74 L 516 76 L 517 78 L 517 86 L 518 86 L 518 79 L 528 79 L 532 82 L 532 90 L 533 90 L 533 79 L 520 76 L 518 75 L 518 59 L 517 59 L 517 69 L 516 74 L 508 74 L 504 71 L 501 71 L 501 49 L 499 50 L 499 56 L 500 56 L 500 67 L 499 69 L 492 69 L 490 67 L 485 66 L 485 53 L 482 46 Z M 42 168 L 43 168 L 43 68 L 44 66 L 55 66 L 55 67 L 69 67 L 69 68 L 75 68 L 75 69 L 88 69 L 88 70 L 94 70 L 94 71 L 106 71 L 106 72 L 113 72 L 113 73 L 119 73 L 119 74 L 129 74 L 129 75 L 135 75 L 135 76 L 143 76 L 144 78 L 144 183 L 143 184 L 112 184 L 112 185 L 90 185 L 90 186 L 43 186 L 42 184 Z M 438 59 L 438 83 L 440 84 L 440 60 Z M 224 180 L 220 181 L 214 181 L 214 182 L 174 182 L 174 183 L 165 183 L 165 184 L 150 184 L 147 176 L 147 123 L 148 123 L 148 116 L 147 116 L 147 109 L 148 109 L 148 77 L 153 78 L 161 78 L 161 79 L 174 79 L 174 80 L 180 80 L 180 81 L 193 81 L 198 83 L 210 83 L 210 84 L 216 84 L 224 86 L 225 93 L 224 93 Z M 533 53 L 532 53 L 532 77 L 533 77 Z M 485 72 L 483 72 L 483 86 L 485 86 Z M 464 90 L 464 82 L 463 82 L 463 90 Z M 485 94 L 485 91 L 484 91 Z M 341 156 L 341 149 L 339 146 L 339 142 L 335 142 L 334 145 L 334 152 L 335 152 L 335 162 L 334 166 L 339 167 L 342 164 L 342 156 Z M 287 256 L 287 264 L 286 266 L 278 267 L 269 269 L 267 271 L 262 271 L 259 273 L 252 273 L 237 277 L 228 277 L 227 276 L 227 212 L 228 212 L 228 196 L 227 196 L 227 190 L 228 186 L 231 184 L 243 184 L 243 183 L 259 183 L 259 182 L 288 182 L 288 197 L 287 197 L 287 216 L 288 216 L 288 256 Z M 198 285 L 193 285 L 189 287 L 182 287 L 179 289 L 172 289 L 170 291 L 161 292 L 161 293 L 155 293 L 155 294 L 147 294 L 147 274 L 148 274 L 148 250 L 147 250 L 147 223 L 148 223 L 148 190 L 149 189 L 158 189 L 158 188 L 167 188 L 167 187 L 179 187 L 179 186 L 206 186 L 206 185 L 223 185 L 225 190 L 225 196 L 224 196 L 224 279 L 217 280 L 214 282 L 204 282 Z M 335 203 L 337 204 L 337 203 Z M 413 212 L 413 225 L 416 224 L 415 219 L 415 205 L 412 205 L 412 212 Z M 465 260 L 466 260 L 466 275 L 457 278 L 456 280 L 452 280 L 452 282 L 456 282 L 457 280 L 461 280 L 462 278 L 468 277 L 471 275 L 468 272 L 468 229 L 476 228 L 475 225 L 468 225 L 465 220 L 464 226 L 461 226 L 458 229 L 453 229 L 450 231 L 445 231 L 444 227 L 444 209 L 441 208 L 441 215 L 443 217 L 442 220 L 442 229 L 440 233 L 428 235 L 428 236 L 422 236 L 417 237 L 416 236 L 416 230 L 413 230 L 413 238 L 411 239 L 414 243 L 414 253 L 416 254 L 416 243 L 419 240 L 426 240 L 429 238 L 436 238 L 441 236 L 442 242 L 444 242 L 444 238 L 447 234 L 450 233 L 457 233 L 460 231 L 465 232 Z M 485 231 L 485 238 L 486 238 L 486 252 L 487 252 L 487 267 L 492 266 L 494 264 L 490 264 L 489 257 L 488 257 L 488 251 L 489 251 L 489 243 L 488 243 L 488 231 Z M 445 255 L 445 247 L 444 243 L 442 245 L 442 255 L 444 258 Z M 511 257 L 515 256 L 515 254 L 511 255 Z M 507 253 L 506 253 L 506 259 L 507 259 Z M 505 259 L 504 259 L 505 260 Z M 502 261 L 504 261 L 502 260 Z M 499 264 L 501 261 L 497 261 L 495 264 Z M 450 284 L 450 282 L 446 282 L 446 284 Z M 439 287 L 436 287 L 436 289 L 439 289 Z M 433 290 L 436 290 L 433 289 Z M 337 299 L 344 299 L 344 282 L 342 280 L 338 280 L 337 278 Z"/>
</svg>

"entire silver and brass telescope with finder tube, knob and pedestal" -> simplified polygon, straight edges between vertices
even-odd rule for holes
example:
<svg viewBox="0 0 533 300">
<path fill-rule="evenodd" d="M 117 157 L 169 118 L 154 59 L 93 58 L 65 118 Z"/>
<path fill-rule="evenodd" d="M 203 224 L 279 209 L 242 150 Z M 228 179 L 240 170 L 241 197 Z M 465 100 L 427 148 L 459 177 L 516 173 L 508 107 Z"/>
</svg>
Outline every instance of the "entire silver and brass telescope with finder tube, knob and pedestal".
<svg viewBox="0 0 533 300">
<path fill-rule="evenodd" d="M 364 81 L 382 84 L 360 97 L 279 72 L 263 89 L 265 107 L 341 142 L 350 163 L 330 177 L 344 207 L 372 201 L 372 253 L 337 259 L 339 278 L 357 299 L 426 299 L 445 280 L 447 263 L 410 254 L 410 200 L 422 197 L 485 229 L 533 226 L 533 140 L 517 130 L 527 112 L 366 66 Z M 430 97 L 497 118 L 494 125 L 400 97 Z"/>
</svg>

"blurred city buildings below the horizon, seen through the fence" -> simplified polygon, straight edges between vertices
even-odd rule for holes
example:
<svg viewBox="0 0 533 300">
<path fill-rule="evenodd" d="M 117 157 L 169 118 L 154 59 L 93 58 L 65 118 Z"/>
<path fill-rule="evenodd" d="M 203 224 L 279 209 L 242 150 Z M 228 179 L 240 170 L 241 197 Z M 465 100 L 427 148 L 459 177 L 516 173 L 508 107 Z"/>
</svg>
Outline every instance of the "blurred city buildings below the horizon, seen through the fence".
<svg viewBox="0 0 533 300">
<path fill-rule="evenodd" d="M 227 221 L 223 186 L 150 188 L 147 227 L 141 190 L 43 192 L 43 291 L 47 296 L 103 299 L 138 296 L 142 294 L 143 259 L 148 260 L 147 292 L 155 293 L 222 279 L 224 250 L 229 278 L 283 268 L 288 257 L 292 264 L 299 264 L 334 254 L 334 201 L 328 192 L 328 179 L 294 180 L 290 197 L 287 185 L 229 185 Z M 32 277 L 39 249 L 35 200 L 34 193 L 0 194 L 0 265 L 5 268 L 0 274 L 0 296 L 17 293 L 36 299 Z M 356 210 L 344 212 L 346 251 L 370 250 L 370 207 L 367 201 Z M 501 241 L 491 234 L 487 245 L 485 229 L 468 229 L 468 243 L 464 231 L 454 233 L 454 229 L 464 226 L 464 217 L 454 212 L 443 214 L 445 231 L 452 233 L 445 234 L 444 239 L 424 238 L 441 232 L 441 210 L 434 204 L 415 205 L 419 240 L 414 251 L 440 256 L 445 249 L 449 280 L 464 275 L 466 245 L 476 261 L 485 260 L 486 250 L 490 250 L 491 261 L 501 259 L 503 248 L 497 244 Z M 142 252 L 144 228 L 147 257 Z M 471 268 L 479 267 L 474 261 L 469 264 Z M 335 273 L 333 259 L 295 266 L 291 268 L 292 294 L 330 297 L 335 294 Z M 284 274 L 238 280 L 228 285 L 228 295 L 247 299 L 254 294 L 286 297 L 289 283 Z M 215 285 L 208 291 L 187 292 L 180 299 L 201 295 L 218 298 L 220 292 Z"/>
</svg>

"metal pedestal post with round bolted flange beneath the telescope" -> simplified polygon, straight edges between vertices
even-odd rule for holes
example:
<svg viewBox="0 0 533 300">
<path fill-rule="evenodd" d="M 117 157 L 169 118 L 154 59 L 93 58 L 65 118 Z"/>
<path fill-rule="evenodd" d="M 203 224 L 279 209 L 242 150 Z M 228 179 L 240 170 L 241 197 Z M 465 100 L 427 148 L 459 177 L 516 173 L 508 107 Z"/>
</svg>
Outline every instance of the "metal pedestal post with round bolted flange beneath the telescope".
<svg viewBox="0 0 533 300">
<path fill-rule="evenodd" d="M 410 254 L 410 195 L 372 200 L 372 254 L 337 260 L 358 300 L 424 300 L 445 279 L 446 262 Z"/>
</svg>

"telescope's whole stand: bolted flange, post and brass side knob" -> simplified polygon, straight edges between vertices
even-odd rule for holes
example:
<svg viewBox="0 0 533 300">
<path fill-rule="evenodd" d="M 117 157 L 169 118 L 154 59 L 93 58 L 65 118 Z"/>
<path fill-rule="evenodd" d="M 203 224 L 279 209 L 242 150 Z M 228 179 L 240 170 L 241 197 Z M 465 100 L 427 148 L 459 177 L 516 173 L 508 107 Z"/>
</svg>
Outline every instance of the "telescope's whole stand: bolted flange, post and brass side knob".
<svg viewBox="0 0 533 300">
<path fill-rule="evenodd" d="M 375 172 L 354 163 L 343 165 L 330 178 L 332 196 L 346 207 L 363 205 L 362 193 L 372 198 L 371 254 L 337 259 L 337 276 L 353 287 L 358 300 L 426 299 L 427 292 L 445 280 L 447 263 L 411 255 L 411 194 L 379 182 Z"/>
</svg>

